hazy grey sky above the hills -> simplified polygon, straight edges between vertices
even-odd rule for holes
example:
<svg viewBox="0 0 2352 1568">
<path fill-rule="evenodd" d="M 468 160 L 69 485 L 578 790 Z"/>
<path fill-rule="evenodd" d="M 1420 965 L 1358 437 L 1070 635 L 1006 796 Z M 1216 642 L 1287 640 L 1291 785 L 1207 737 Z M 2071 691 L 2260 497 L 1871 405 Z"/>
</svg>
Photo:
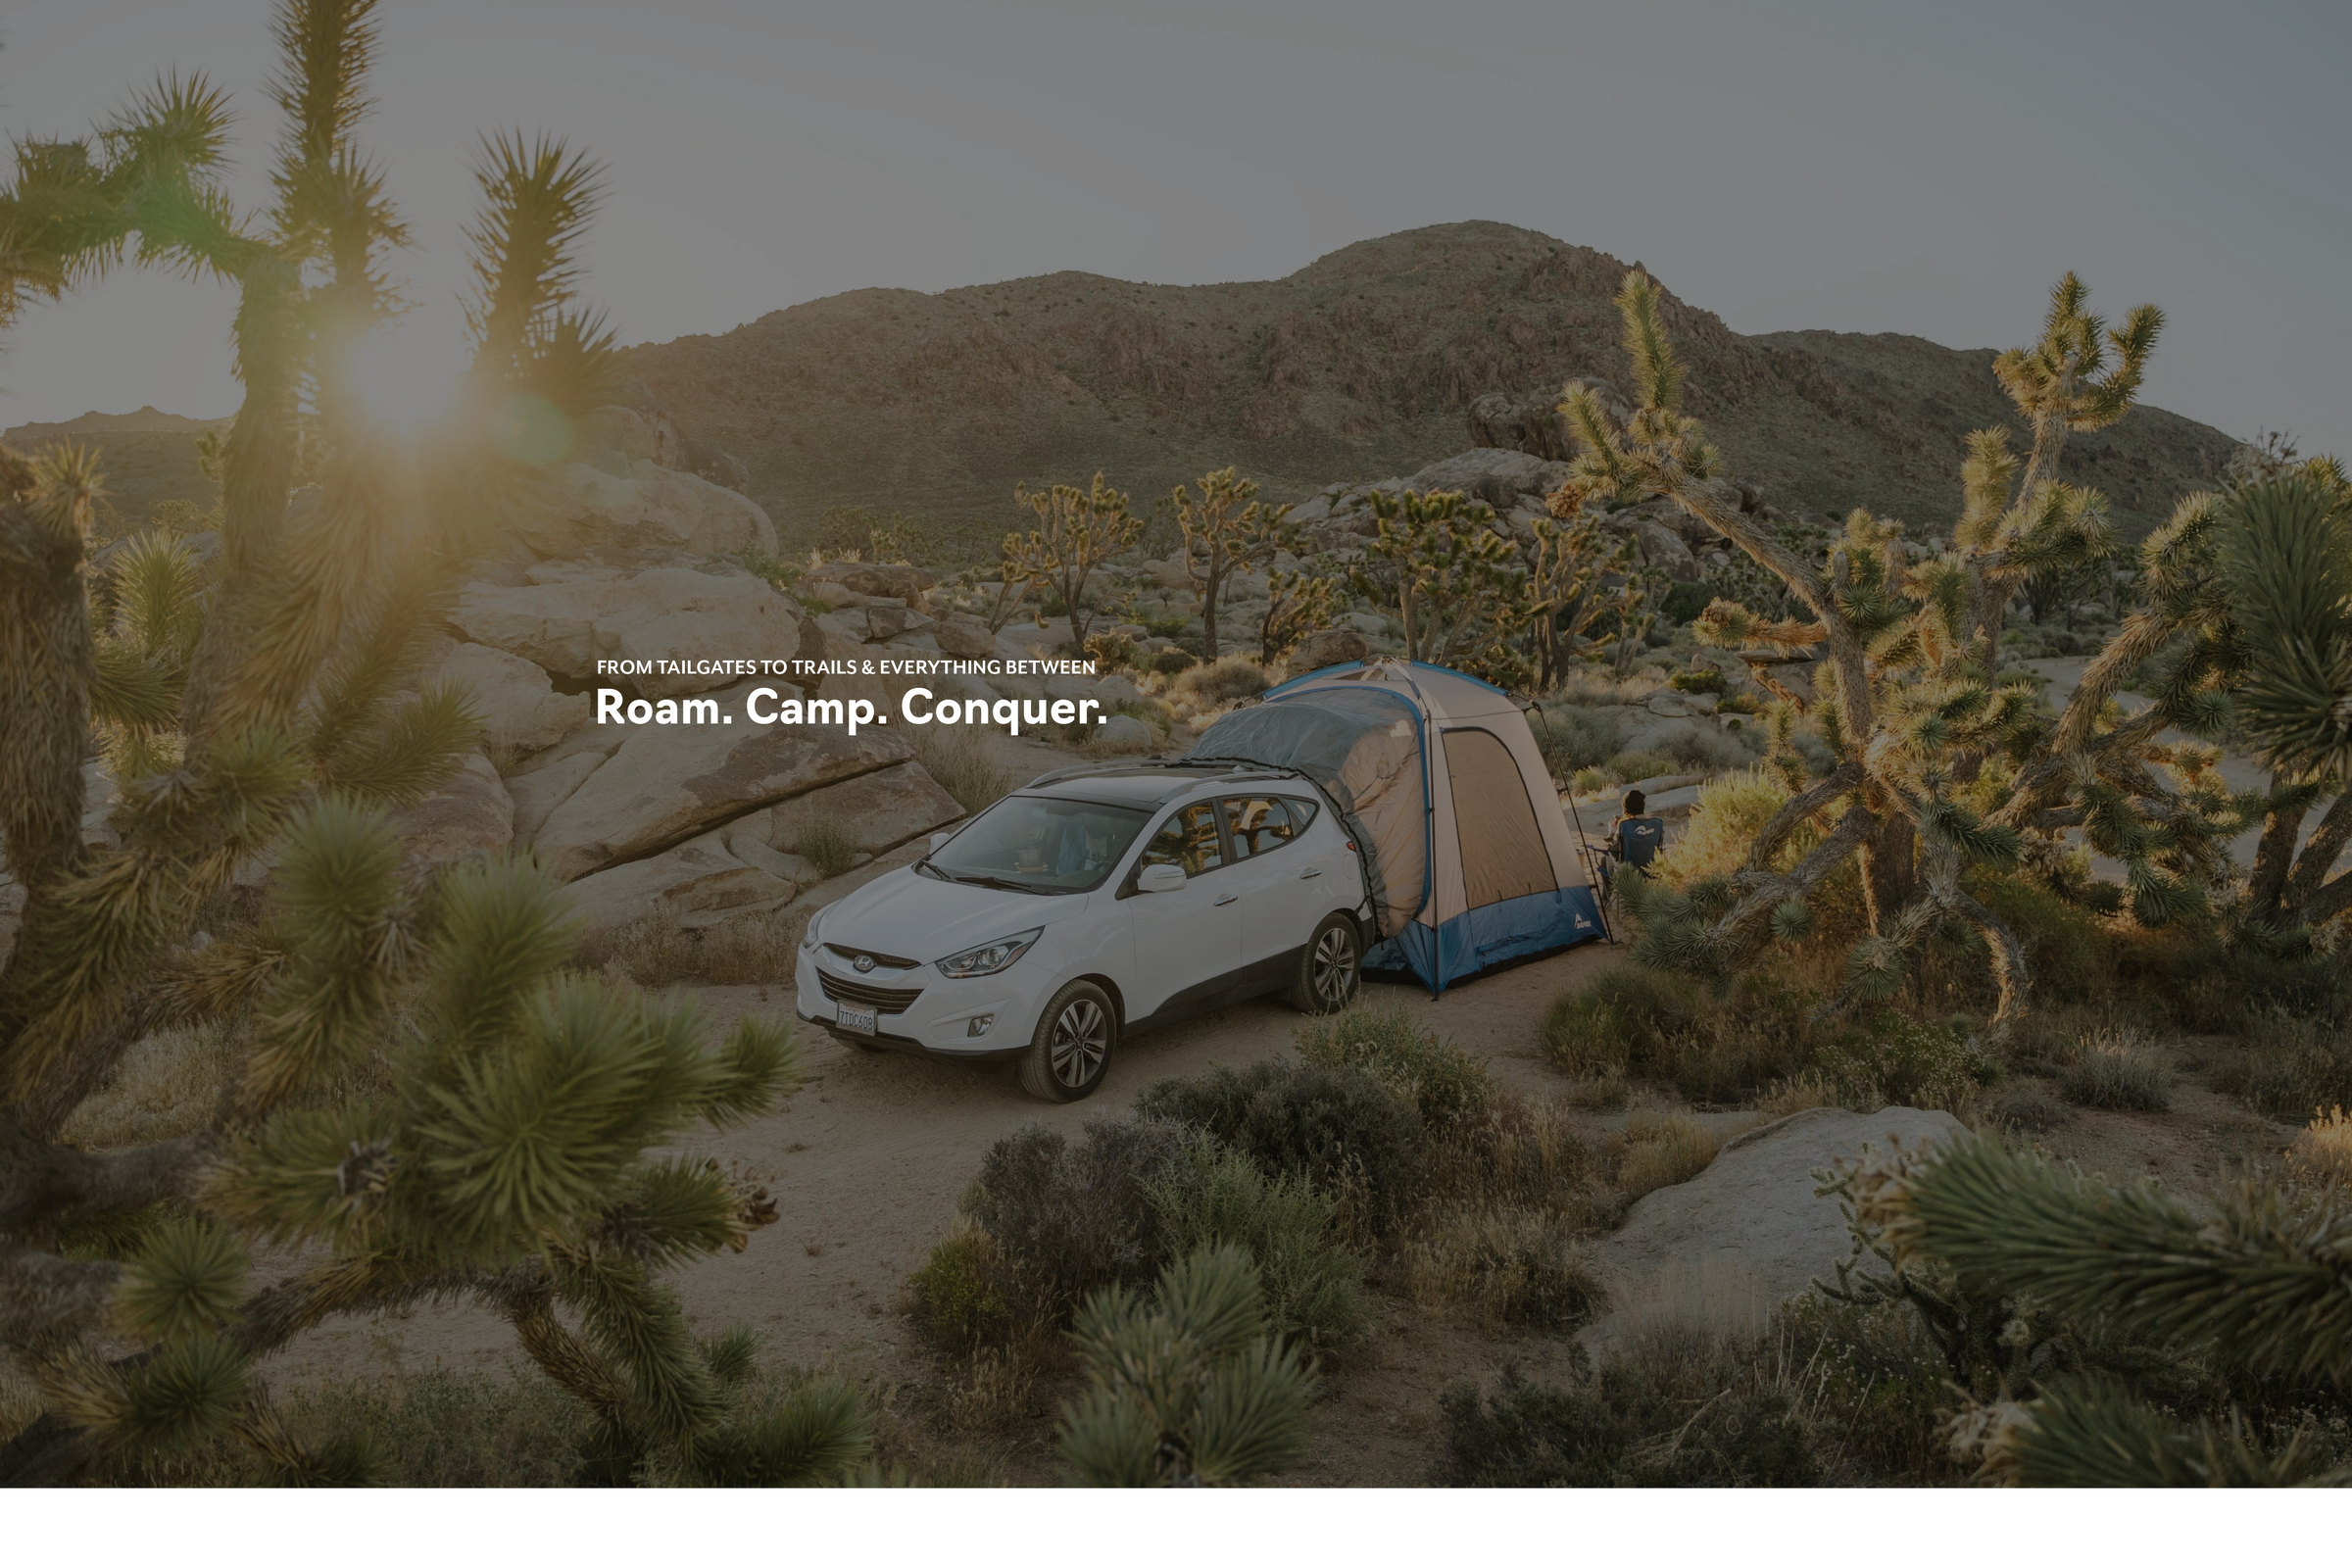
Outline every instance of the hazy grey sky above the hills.
<svg viewBox="0 0 2352 1568">
<path fill-rule="evenodd" d="M 202 71 L 259 197 L 268 14 L 5 0 L 0 127 Z M 522 125 L 612 165 L 590 292 L 626 341 L 868 284 L 1277 277 L 1498 219 L 1738 331 L 2009 346 L 2077 268 L 2171 315 L 2150 402 L 2352 451 L 2347 61 L 2343 0 L 386 0 L 369 134 L 452 357 L 466 150 Z M 226 331 L 216 287 L 106 280 L 0 346 L 0 423 L 228 414 Z"/>
</svg>

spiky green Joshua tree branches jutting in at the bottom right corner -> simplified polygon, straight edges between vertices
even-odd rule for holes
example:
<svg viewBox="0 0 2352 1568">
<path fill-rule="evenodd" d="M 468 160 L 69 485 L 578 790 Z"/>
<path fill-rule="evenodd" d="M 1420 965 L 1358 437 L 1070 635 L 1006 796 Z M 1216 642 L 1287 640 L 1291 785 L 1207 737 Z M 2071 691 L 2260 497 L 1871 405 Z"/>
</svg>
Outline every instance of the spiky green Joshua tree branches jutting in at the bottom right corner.
<svg viewBox="0 0 2352 1568">
<path fill-rule="evenodd" d="M 2340 1187 L 2232 1180 L 2209 1211 L 2161 1190 L 2114 1187 L 1992 1138 L 1922 1157 L 1882 1157 L 1842 1182 L 1856 1234 L 1889 1272 L 1872 1293 L 1922 1307 L 1952 1340 L 1955 1305 L 1973 1319 L 1976 1359 L 2063 1316 L 2107 1340 L 2211 1356 L 2256 1375 L 2352 1380 L 2352 1265 Z M 1936 1274 L 1917 1291 L 1910 1276 Z M 2321 1476 L 2307 1434 L 2279 1446 L 2241 1422 L 2183 1425 L 2119 1382 L 2034 1375 L 2027 1356 L 1987 1403 L 1955 1425 L 1955 1446 L 2025 1486 L 2281 1486 Z M 1959 1368 L 1955 1368 L 1959 1371 Z"/>
</svg>

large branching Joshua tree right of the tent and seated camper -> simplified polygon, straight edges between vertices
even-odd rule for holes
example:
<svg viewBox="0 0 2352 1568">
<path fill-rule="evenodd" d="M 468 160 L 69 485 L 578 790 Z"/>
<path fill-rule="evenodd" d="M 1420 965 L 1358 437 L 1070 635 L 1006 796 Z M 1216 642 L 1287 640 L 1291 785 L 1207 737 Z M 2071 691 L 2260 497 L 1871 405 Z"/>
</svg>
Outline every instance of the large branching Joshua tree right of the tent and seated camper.
<svg viewBox="0 0 2352 1568">
<path fill-rule="evenodd" d="M 1997 677 L 2002 618 L 2018 585 L 2110 548 L 2103 498 L 2058 480 L 2058 451 L 2067 430 L 2112 423 L 2131 407 L 2161 320 L 2154 308 L 2110 331 L 2084 313 L 2084 289 L 2067 275 L 2042 341 L 1997 362 L 2034 430 L 2023 473 L 2006 433 L 1980 430 L 1962 468 L 1966 510 L 1952 550 L 1915 562 L 1898 524 L 1853 512 L 1825 564 L 1790 550 L 1729 487 L 1710 482 L 1715 449 L 1679 411 L 1684 371 L 1658 315 L 1658 287 L 1630 273 L 1618 310 L 1639 407 L 1621 428 L 1588 388 L 1566 397 L 1578 458 L 1564 505 L 1668 496 L 1788 583 L 1802 618 L 1766 623 L 1717 599 L 1696 630 L 1717 646 L 1811 654 L 1816 712 L 1835 757 L 1828 778 L 1766 823 L 1729 882 L 1672 896 L 1635 891 L 1644 954 L 1686 969 L 1752 961 L 1773 933 L 1809 931 L 1806 896 L 1860 858 L 1870 936 L 1849 954 L 1839 999 L 1893 990 L 1912 945 L 1962 919 L 1990 947 L 2002 1027 L 2025 1004 L 2023 950 L 1964 889 L 1966 865 L 2049 853 L 2051 835 L 2084 827 L 2093 849 L 2126 863 L 2143 924 L 2206 907 L 2209 889 L 2227 875 L 2225 844 L 2244 804 L 2213 776 L 2218 752 L 2159 736 L 2166 726 L 2211 736 L 2227 722 L 2225 604 L 2199 569 L 2180 564 L 2211 529 L 2216 498 L 2183 501 L 2147 541 L 2150 602 L 2056 724 L 2034 715 L 2030 686 Z M 2159 649 L 2171 663 L 2157 701 L 2138 717 L 2114 715 L 2114 686 Z M 1813 849 L 1783 863 L 1797 830 L 1832 811 L 1835 825 Z"/>
</svg>

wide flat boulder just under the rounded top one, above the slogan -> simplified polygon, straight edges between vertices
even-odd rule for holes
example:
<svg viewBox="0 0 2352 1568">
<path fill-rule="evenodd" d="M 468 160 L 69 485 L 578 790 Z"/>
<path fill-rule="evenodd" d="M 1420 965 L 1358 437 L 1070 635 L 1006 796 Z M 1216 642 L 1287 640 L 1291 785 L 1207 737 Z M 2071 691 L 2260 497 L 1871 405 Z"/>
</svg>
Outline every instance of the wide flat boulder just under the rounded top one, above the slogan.
<svg viewBox="0 0 2352 1568">
<path fill-rule="evenodd" d="M 800 609 L 736 567 L 541 562 L 517 585 L 470 583 L 449 611 L 468 642 L 541 670 L 595 677 L 600 658 L 804 658 Z M 731 672 L 630 677 L 644 696 L 684 696 Z"/>
</svg>

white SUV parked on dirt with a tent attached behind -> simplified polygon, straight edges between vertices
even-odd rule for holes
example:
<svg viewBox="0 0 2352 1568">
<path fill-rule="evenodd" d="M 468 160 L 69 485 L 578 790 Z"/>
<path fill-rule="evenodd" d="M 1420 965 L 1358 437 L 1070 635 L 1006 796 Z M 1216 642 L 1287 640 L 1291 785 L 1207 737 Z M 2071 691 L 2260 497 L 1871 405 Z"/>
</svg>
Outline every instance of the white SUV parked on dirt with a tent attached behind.
<svg viewBox="0 0 2352 1568">
<path fill-rule="evenodd" d="M 1364 867 L 1301 773 L 1122 764 L 1014 790 L 809 919 L 797 1013 L 866 1051 L 1021 1060 L 1044 1100 L 1120 1039 L 1289 992 L 1355 997 Z"/>
</svg>

